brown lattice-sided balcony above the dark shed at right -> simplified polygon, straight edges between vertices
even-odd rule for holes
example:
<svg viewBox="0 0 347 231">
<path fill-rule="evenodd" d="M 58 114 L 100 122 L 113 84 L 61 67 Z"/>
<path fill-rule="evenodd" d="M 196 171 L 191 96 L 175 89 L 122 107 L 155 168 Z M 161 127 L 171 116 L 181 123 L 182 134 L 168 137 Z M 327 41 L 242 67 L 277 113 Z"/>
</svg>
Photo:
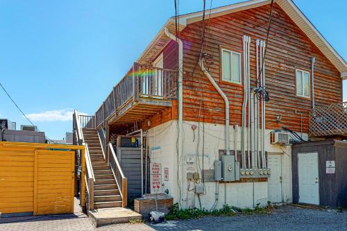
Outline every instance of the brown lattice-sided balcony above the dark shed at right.
<svg viewBox="0 0 347 231">
<path fill-rule="evenodd" d="M 347 102 L 316 106 L 310 113 L 310 137 L 347 137 Z"/>
</svg>

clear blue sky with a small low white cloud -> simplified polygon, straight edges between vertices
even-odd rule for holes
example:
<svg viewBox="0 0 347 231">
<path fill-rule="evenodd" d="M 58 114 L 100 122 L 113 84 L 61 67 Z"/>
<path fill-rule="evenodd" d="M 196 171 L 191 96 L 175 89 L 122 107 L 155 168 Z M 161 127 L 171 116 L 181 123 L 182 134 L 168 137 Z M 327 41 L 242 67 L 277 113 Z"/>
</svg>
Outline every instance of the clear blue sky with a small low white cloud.
<svg viewBox="0 0 347 231">
<path fill-rule="evenodd" d="M 346 60 L 347 1 L 294 2 Z M 198 10 L 202 1 L 180 0 L 180 13 Z M 0 0 L 0 82 L 40 130 L 62 139 L 71 111 L 94 114 L 172 15 L 174 0 Z M 2 90 L 0 117 L 28 124 Z"/>
</svg>

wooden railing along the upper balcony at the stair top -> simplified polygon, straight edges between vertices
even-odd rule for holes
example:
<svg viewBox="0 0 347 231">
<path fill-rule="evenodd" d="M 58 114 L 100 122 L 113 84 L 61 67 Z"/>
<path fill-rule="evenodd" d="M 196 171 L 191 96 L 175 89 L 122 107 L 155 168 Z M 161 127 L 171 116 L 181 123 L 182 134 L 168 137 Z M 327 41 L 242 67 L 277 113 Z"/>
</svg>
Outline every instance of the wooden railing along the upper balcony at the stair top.
<svg viewBox="0 0 347 231">
<path fill-rule="evenodd" d="M 153 99 L 176 99 L 177 71 L 159 67 L 139 65 L 136 62 L 126 73 L 95 113 L 96 127 L 129 101 L 138 101 L 139 97 Z"/>
</svg>

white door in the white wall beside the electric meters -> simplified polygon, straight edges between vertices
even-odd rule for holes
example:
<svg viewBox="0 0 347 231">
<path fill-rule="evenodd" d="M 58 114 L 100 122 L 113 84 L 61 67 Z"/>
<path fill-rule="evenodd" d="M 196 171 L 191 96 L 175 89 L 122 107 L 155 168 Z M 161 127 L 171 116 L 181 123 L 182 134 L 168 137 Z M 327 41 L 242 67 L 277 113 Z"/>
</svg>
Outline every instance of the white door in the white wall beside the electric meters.
<svg viewBox="0 0 347 231">
<path fill-rule="evenodd" d="M 282 203 L 282 155 L 268 155 L 267 162 L 271 177 L 267 182 L 268 200 L 271 203 Z"/>
</svg>

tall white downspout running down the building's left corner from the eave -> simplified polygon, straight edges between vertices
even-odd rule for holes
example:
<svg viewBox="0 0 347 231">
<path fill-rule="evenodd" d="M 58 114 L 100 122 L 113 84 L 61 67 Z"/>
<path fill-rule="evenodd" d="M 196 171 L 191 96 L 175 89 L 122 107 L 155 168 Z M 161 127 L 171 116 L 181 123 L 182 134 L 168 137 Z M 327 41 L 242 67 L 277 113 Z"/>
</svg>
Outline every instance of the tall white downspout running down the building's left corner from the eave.
<svg viewBox="0 0 347 231">
<path fill-rule="evenodd" d="M 182 179 L 180 172 L 180 157 L 183 155 L 183 42 L 164 28 L 165 35 L 178 43 L 178 182 Z M 178 202 L 180 205 L 180 184 L 178 183 Z M 182 206 L 180 206 L 182 207 Z"/>
</svg>

